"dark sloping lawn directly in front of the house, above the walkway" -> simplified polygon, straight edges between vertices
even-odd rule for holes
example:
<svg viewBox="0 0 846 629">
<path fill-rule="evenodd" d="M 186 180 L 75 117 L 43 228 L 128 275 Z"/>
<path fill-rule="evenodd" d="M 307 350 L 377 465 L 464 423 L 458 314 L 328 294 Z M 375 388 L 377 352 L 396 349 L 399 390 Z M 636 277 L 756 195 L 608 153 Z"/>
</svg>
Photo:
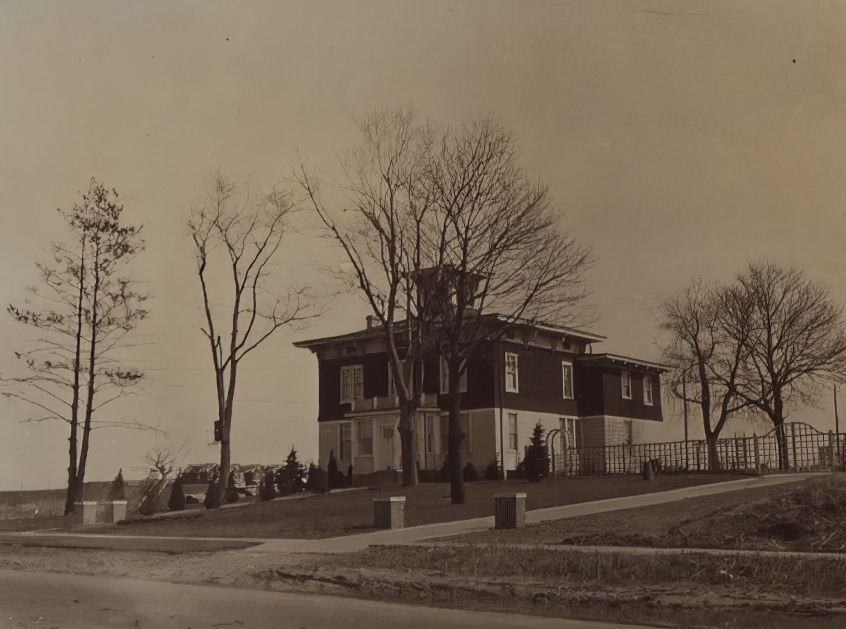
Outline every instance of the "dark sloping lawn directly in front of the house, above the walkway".
<svg viewBox="0 0 846 629">
<path fill-rule="evenodd" d="M 414 488 L 354 490 L 252 503 L 243 508 L 204 510 L 202 517 L 129 521 L 118 527 L 77 527 L 75 532 L 123 535 L 190 537 L 305 538 L 320 539 L 371 531 L 373 499 L 405 496 L 405 524 L 414 527 L 435 522 L 468 520 L 493 515 L 493 496 L 510 492 L 526 494 L 526 509 L 572 505 L 591 500 L 651 494 L 745 478 L 736 474 L 667 474 L 654 483 L 640 477 L 547 479 L 468 483 L 464 505 L 451 505 L 449 485 L 421 484 Z"/>
</svg>

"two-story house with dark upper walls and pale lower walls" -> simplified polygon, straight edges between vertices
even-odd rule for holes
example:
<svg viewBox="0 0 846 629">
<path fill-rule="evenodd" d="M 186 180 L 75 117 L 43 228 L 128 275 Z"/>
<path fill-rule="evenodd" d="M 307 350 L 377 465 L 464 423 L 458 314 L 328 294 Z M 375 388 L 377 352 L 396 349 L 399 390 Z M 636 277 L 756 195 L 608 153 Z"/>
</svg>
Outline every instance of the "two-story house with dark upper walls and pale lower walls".
<svg viewBox="0 0 846 629">
<path fill-rule="evenodd" d="M 583 330 L 502 324 L 502 338 L 483 344 L 461 378 L 462 466 L 514 470 L 536 422 L 560 430 L 558 450 L 637 443 L 645 423 L 662 421 L 662 365 L 595 354 L 605 337 Z M 321 467 L 332 453 L 355 475 L 398 469 L 398 399 L 383 329 L 368 317 L 358 332 L 294 345 L 317 356 Z M 445 361 L 426 361 L 416 417 L 421 470 L 440 469 L 446 457 L 446 383 Z"/>
</svg>

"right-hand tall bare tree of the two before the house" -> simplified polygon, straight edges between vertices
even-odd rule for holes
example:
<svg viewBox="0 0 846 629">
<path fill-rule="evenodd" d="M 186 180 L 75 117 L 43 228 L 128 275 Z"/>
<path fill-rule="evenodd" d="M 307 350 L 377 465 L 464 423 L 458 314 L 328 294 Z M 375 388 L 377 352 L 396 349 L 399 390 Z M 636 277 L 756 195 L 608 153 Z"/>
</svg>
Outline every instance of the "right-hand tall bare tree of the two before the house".
<svg viewBox="0 0 846 629">
<path fill-rule="evenodd" d="M 508 325 L 565 324 L 584 315 L 590 250 L 560 229 L 547 185 L 519 167 L 514 135 L 492 116 L 446 130 L 429 185 L 435 212 L 422 234 L 441 290 L 430 330 L 448 366 L 448 468 L 453 504 L 464 502 L 459 395 L 470 356 Z"/>
</svg>

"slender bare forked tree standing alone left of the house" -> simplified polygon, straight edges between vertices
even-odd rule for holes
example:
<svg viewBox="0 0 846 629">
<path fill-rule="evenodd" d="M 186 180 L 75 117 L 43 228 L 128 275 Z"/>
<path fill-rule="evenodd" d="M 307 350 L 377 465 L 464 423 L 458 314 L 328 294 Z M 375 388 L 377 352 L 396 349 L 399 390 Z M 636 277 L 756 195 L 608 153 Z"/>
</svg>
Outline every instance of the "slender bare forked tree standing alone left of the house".
<svg viewBox="0 0 846 629">
<path fill-rule="evenodd" d="M 195 245 L 197 274 L 206 313 L 203 334 L 211 349 L 217 391 L 216 439 L 220 441 L 220 478 L 229 476 L 230 437 L 241 361 L 279 328 L 305 324 L 319 312 L 308 287 L 274 290 L 271 268 L 297 210 L 289 192 L 237 185 L 220 170 L 190 210 L 188 228 Z M 224 286 L 213 262 L 228 275 Z M 213 296 L 214 295 L 214 296 Z M 216 314 L 217 304 L 224 303 Z M 226 483 L 218 483 L 213 505 L 222 505 Z"/>
</svg>

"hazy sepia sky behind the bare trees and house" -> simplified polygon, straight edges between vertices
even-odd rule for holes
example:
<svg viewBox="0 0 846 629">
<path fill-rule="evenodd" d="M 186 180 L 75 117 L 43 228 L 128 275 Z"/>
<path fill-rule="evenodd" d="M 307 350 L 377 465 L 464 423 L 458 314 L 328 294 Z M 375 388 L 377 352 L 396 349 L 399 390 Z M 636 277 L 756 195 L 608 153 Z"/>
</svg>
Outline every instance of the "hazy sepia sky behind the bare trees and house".
<svg viewBox="0 0 846 629">
<path fill-rule="evenodd" d="M 333 172 L 354 115 L 413 104 L 438 123 L 496 113 L 592 246 L 596 351 L 658 358 L 656 297 L 750 259 L 805 269 L 846 301 L 846 3 L 122 2 L 0 4 L 0 303 L 19 304 L 94 176 L 144 223 L 135 278 L 145 390 L 115 419 L 215 461 L 216 410 L 184 219 L 210 168 L 261 185 L 299 159 Z M 299 157 L 298 157 L 299 152 Z M 321 283 L 327 241 L 292 234 L 280 287 Z M 363 327 L 344 295 L 241 372 L 233 460 L 316 457 L 316 359 L 290 344 Z M 0 317 L 0 375 L 31 331 Z M 678 435 L 667 410 L 666 435 Z M 0 400 L 0 489 L 61 486 L 67 428 Z M 823 407 L 797 411 L 832 428 Z M 729 425 L 729 433 L 732 431 Z M 698 434 L 696 430 L 692 432 Z M 700 433 L 700 431 L 699 431 Z M 161 443 L 161 439 L 160 439 Z M 102 430 L 89 480 L 138 477 L 152 433 Z M 22 480 L 23 479 L 23 480 Z"/>
</svg>

